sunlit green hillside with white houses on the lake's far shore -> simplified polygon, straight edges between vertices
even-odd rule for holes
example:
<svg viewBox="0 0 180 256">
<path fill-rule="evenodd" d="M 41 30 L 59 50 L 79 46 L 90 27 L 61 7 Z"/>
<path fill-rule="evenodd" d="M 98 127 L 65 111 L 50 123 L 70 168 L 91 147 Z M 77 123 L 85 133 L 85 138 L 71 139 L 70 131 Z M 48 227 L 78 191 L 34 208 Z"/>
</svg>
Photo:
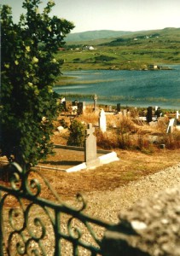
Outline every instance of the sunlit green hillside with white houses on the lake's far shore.
<svg viewBox="0 0 180 256">
<path fill-rule="evenodd" d="M 180 63 L 180 28 L 68 42 L 57 57 L 64 61 L 62 70 L 146 70 L 149 65 L 177 64 Z"/>
</svg>

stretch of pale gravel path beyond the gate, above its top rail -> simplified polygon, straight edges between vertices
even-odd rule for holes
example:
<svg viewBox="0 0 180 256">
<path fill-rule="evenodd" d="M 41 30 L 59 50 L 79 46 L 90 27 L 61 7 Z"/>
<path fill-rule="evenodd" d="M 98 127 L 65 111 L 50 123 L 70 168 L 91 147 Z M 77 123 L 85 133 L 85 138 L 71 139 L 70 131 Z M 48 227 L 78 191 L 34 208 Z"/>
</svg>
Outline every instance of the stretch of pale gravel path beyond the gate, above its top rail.
<svg viewBox="0 0 180 256">
<path fill-rule="evenodd" d="M 119 212 L 125 211 L 136 201 L 151 197 L 179 183 L 180 163 L 113 191 L 107 190 L 102 193 L 93 192 L 85 195 L 88 202 L 87 213 L 114 224 L 119 222 Z"/>
</svg>

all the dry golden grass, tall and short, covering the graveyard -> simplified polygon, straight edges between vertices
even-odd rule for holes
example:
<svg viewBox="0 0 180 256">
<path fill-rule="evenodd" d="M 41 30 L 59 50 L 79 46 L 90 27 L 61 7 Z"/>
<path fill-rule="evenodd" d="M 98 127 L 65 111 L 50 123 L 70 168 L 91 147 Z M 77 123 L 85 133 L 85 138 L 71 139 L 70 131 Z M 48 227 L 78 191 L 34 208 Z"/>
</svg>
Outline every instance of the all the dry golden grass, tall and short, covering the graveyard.
<svg viewBox="0 0 180 256">
<path fill-rule="evenodd" d="M 56 127 L 60 125 L 60 119 L 70 123 L 69 117 L 61 116 L 56 122 Z M 96 125 L 98 114 L 89 111 L 76 119 Z M 168 118 L 165 117 L 158 125 L 150 126 L 129 117 L 109 115 L 107 132 L 103 134 L 96 129 L 97 144 L 98 148 L 112 148 L 118 154 L 119 161 L 89 171 L 66 173 L 42 169 L 41 172 L 62 199 L 70 198 L 78 192 L 115 189 L 130 181 L 159 172 L 180 161 L 180 131 L 165 134 L 167 122 Z M 68 136 L 68 129 L 61 133 L 55 131 L 52 141 L 66 145 Z M 149 143 L 149 137 L 156 137 L 160 141 Z M 165 143 L 165 148 L 161 149 L 160 143 Z M 58 150 L 54 156 L 49 156 L 43 165 L 48 165 L 49 162 L 50 166 L 58 166 L 61 165 L 61 161 L 81 161 L 78 152 L 69 150 L 65 153 L 61 149 Z M 47 189 L 44 189 L 43 193 L 49 196 Z"/>
</svg>

